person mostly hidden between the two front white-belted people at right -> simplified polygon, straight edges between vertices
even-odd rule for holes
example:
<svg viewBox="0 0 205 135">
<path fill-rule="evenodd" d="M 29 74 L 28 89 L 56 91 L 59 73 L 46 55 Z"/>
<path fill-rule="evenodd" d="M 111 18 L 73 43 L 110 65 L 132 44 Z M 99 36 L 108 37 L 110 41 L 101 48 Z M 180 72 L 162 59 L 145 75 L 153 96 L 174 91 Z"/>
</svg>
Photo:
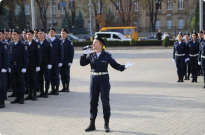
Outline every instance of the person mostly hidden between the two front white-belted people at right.
<svg viewBox="0 0 205 135">
<path fill-rule="evenodd" d="M 185 33 L 184 34 L 184 38 L 185 38 L 185 44 L 188 47 L 188 42 L 190 41 L 190 34 L 189 33 Z M 188 57 L 188 56 L 187 56 Z M 191 74 L 191 67 L 190 67 L 190 61 L 186 61 L 185 63 L 185 79 L 184 80 L 189 80 L 189 76 Z"/>
</svg>

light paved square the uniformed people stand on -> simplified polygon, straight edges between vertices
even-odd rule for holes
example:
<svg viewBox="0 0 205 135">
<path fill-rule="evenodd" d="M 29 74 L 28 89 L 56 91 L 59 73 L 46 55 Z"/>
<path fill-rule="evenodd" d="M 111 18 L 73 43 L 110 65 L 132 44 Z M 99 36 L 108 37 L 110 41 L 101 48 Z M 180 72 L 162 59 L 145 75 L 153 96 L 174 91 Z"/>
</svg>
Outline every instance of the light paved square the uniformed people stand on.
<svg viewBox="0 0 205 135">
<path fill-rule="evenodd" d="M 205 135 L 205 89 L 198 83 L 177 83 L 172 49 L 132 48 L 112 50 L 120 64 L 135 65 L 124 72 L 109 66 L 111 120 L 114 135 Z M 86 133 L 89 124 L 90 66 L 81 67 L 82 51 L 75 51 L 70 93 L 9 104 L 0 110 L 0 135 L 105 134 L 102 105 L 97 130 Z M 10 94 L 10 93 L 9 93 Z"/>
</svg>

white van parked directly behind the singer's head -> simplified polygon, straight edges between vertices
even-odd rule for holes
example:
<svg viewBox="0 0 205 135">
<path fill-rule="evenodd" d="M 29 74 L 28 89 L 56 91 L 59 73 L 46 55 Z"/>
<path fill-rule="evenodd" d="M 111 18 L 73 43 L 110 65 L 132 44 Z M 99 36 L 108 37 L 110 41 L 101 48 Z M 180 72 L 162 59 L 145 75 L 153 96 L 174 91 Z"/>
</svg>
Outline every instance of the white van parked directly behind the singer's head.
<svg viewBox="0 0 205 135">
<path fill-rule="evenodd" d="M 102 38 L 107 38 L 108 41 L 130 41 L 130 38 L 126 38 L 124 35 L 118 32 L 95 32 Z"/>
</svg>

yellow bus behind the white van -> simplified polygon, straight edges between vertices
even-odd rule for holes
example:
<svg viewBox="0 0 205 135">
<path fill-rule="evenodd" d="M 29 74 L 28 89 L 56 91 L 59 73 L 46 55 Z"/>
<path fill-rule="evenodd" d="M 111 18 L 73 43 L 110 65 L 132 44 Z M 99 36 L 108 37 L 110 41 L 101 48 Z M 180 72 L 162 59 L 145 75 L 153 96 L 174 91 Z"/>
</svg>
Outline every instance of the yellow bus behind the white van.
<svg viewBox="0 0 205 135">
<path fill-rule="evenodd" d="M 103 27 L 100 32 L 119 32 L 122 33 L 125 37 L 130 38 L 130 36 L 137 41 L 138 33 L 137 27 L 125 26 L 125 27 Z"/>
</svg>

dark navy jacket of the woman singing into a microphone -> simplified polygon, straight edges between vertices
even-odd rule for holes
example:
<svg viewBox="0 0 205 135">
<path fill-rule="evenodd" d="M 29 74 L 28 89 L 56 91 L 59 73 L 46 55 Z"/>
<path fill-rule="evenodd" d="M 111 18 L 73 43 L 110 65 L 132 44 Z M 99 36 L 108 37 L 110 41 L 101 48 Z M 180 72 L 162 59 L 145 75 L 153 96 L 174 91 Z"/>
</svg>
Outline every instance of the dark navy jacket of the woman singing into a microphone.
<svg viewBox="0 0 205 135">
<path fill-rule="evenodd" d="M 90 64 L 91 72 L 107 72 L 108 64 L 112 66 L 112 68 L 124 71 L 125 66 L 118 64 L 109 52 L 102 51 L 100 56 L 97 58 L 96 52 L 90 53 L 89 55 L 84 54 L 80 58 L 80 65 L 86 66 Z"/>
</svg>

